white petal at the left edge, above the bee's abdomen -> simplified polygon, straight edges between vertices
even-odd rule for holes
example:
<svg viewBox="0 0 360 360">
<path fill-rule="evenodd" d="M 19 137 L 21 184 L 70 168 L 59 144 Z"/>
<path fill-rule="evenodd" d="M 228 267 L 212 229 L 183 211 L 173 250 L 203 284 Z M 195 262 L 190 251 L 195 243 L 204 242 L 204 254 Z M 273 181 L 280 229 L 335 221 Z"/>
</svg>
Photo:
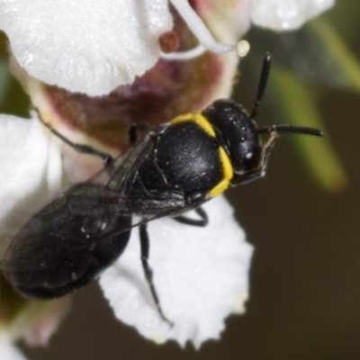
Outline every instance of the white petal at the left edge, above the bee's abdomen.
<svg viewBox="0 0 360 360">
<path fill-rule="evenodd" d="M 22 215 L 28 216 L 34 204 L 47 200 L 47 190 L 58 188 L 60 152 L 44 135 L 37 119 L 0 115 L 0 166 L 0 221 L 9 220 L 16 208 L 13 229 L 9 229 L 13 231 L 14 220 L 23 221 Z M 3 224 L 2 233 L 8 230 L 5 228 Z"/>
</svg>

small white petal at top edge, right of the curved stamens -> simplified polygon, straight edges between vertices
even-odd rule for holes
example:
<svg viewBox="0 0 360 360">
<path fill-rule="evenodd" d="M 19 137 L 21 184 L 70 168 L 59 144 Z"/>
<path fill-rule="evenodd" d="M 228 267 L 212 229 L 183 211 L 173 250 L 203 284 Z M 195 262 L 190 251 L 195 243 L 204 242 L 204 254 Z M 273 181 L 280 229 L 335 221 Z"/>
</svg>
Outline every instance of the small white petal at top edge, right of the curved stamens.
<svg viewBox="0 0 360 360">
<path fill-rule="evenodd" d="M 294 30 L 335 4 L 335 0 L 253 0 L 252 21 L 272 30 Z"/>
</svg>

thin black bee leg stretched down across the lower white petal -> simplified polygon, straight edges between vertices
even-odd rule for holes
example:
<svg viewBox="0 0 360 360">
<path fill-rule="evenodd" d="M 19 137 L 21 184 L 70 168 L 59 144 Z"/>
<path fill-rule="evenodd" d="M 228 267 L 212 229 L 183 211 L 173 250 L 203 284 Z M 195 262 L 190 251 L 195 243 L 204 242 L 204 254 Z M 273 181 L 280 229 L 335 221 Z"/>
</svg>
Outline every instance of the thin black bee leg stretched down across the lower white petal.
<svg viewBox="0 0 360 360">
<path fill-rule="evenodd" d="M 140 237 L 140 251 L 141 251 L 142 268 L 144 270 L 144 275 L 145 275 L 146 281 L 148 282 L 148 286 L 150 288 L 151 296 L 157 306 L 157 311 L 158 311 L 161 319 L 166 321 L 167 324 L 170 325 L 170 327 L 173 327 L 174 323 L 166 318 L 166 316 L 164 315 L 164 312 L 161 309 L 160 301 L 157 296 L 157 291 L 156 291 L 155 285 L 153 283 L 153 272 L 152 272 L 151 267 L 148 265 L 148 253 L 149 253 L 150 244 L 149 244 L 149 239 L 148 239 L 147 224 L 141 224 L 139 226 L 139 237 Z"/>
</svg>

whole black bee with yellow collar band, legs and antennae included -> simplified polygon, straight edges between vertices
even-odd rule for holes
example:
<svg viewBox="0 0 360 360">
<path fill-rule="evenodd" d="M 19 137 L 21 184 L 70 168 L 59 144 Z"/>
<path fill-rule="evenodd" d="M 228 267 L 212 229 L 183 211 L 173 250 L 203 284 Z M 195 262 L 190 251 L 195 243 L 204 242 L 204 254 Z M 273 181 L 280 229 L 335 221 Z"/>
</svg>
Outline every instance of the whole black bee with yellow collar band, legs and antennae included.
<svg viewBox="0 0 360 360">
<path fill-rule="evenodd" d="M 21 229 L 1 264 L 5 278 L 26 297 L 51 299 L 91 282 L 121 256 L 131 229 L 139 227 L 141 262 L 157 310 L 161 311 L 148 266 L 147 223 L 170 216 L 194 226 L 208 222 L 202 203 L 229 185 L 263 177 L 279 132 L 321 136 L 317 129 L 273 125 L 257 129 L 254 120 L 270 70 L 266 54 L 257 101 L 248 116 L 232 100 L 218 100 L 201 113 L 187 113 L 149 130 L 141 139 L 130 127 L 130 148 L 121 156 L 70 142 L 77 151 L 94 154 L 103 170 L 71 186 L 49 202 Z M 40 115 L 40 114 L 39 114 Z M 264 144 L 260 134 L 268 134 Z M 199 219 L 184 216 L 195 210 Z M 137 215 L 139 221 L 134 221 Z M 168 321 L 168 320 L 166 320 Z"/>
</svg>

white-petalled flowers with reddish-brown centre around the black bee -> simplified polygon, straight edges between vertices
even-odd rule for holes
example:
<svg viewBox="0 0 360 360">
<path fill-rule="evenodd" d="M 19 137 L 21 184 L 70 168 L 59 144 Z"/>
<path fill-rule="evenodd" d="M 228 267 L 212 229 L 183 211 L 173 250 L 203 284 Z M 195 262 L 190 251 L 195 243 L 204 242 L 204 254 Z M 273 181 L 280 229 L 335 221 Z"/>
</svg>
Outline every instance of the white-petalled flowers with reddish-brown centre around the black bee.
<svg viewBox="0 0 360 360">
<path fill-rule="evenodd" d="M 233 50 L 251 22 L 291 30 L 333 3 L 0 0 L 0 26 L 10 41 L 14 74 L 44 119 L 76 142 L 118 151 L 125 147 L 121 131 L 130 121 L 155 125 L 228 97 L 238 65 Z M 72 152 L 40 127 L 35 114 L 26 120 L 1 115 L 0 128 L 0 220 L 7 239 L 12 236 L 7 229 L 11 233 L 26 220 L 26 204 L 33 211 L 66 179 L 83 180 L 101 164 Z M 207 229 L 171 219 L 149 225 L 157 291 L 174 327 L 160 319 L 151 300 L 136 230 L 125 253 L 100 277 L 115 316 L 146 338 L 175 339 L 181 345 L 192 341 L 200 347 L 220 337 L 229 314 L 244 311 L 252 247 L 224 198 L 209 202 L 205 210 Z M 7 309 L 4 302 L 2 293 L 0 312 Z M 2 359 L 22 358 L 10 343 L 31 338 L 39 328 L 50 334 L 67 309 L 67 300 L 51 311 L 46 303 L 35 304 L 24 304 L 0 327 Z M 36 316 L 23 315 L 29 313 Z M 15 319 L 25 319 L 26 326 Z"/>
</svg>

